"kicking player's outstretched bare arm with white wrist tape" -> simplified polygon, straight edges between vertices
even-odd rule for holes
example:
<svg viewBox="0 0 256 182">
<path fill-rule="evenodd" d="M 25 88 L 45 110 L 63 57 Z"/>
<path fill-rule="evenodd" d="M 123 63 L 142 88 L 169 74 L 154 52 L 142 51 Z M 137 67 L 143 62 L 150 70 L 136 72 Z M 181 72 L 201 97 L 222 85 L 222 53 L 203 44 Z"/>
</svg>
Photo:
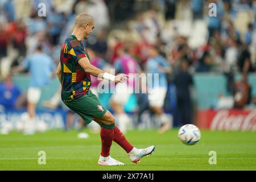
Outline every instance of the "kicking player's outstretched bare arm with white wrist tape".
<svg viewBox="0 0 256 182">
<path fill-rule="evenodd" d="M 128 76 L 125 74 L 119 74 L 117 76 L 111 75 L 109 73 L 106 73 L 102 71 L 101 69 L 94 67 L 92 64 L 90 64 L 90 61 L 87 57 L 81 58 L 78 63 L 81 65 L 81 67 L 84 69 L 86 73 L 89 73 L 90 75 L 96 76 L 96 77 L 102 77 L 106 80 L 114 81 L 114 82 L 124 82 Z"/>
</svg>

